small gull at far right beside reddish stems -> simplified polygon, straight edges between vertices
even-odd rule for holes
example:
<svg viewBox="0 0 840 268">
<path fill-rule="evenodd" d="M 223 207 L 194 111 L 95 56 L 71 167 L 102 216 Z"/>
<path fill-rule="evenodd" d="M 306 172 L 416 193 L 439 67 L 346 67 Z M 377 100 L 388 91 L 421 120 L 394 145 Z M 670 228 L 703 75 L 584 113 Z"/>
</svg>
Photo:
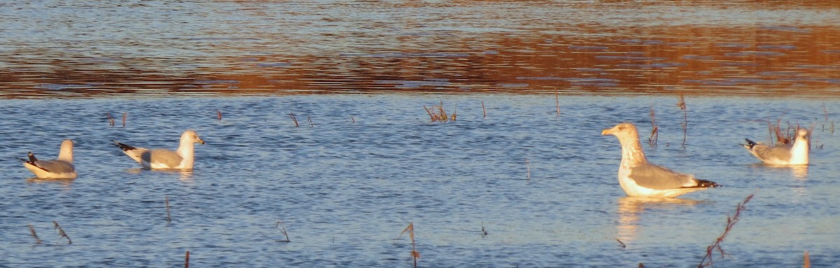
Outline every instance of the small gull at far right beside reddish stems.
<svg viewBox="0 0 840 268">
<path fill-rule="evenodd" d="M 808 130 L 799 129 L 796 130 L 796 139 L 793 145 L 780 144 L 770 147 L 761 142 L 745 139 L 747 144 L 742 146 L 747 148 L 750 154 L 770 165 L 808 165 L 808 152 L 811 150 L 808 139 L 810 139 Z"/>
</svg>

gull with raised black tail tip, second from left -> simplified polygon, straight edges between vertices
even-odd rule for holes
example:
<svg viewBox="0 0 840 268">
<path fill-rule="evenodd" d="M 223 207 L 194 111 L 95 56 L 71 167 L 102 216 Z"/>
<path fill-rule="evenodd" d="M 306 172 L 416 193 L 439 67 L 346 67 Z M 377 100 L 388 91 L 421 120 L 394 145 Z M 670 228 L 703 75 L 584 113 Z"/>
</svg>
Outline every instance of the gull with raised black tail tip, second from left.
<svg viewBox="0 0 840 268">
<path fill-rule="evenodd" d="M 194 130 L 186 130 L 184 131 L 184 134 L 181 134 L 181 144 L 178 145 L 178 150 L 174 151 L 166 149 L 149 150 L 126 145 L 116 140 L 114 140 L 113 143 L 122 149 L 125 155 L 129 155 L 131 159 L 140 163 L 144 169 L 190 170 L 192 169 L 192 163 L 195 159 L 193 156 L 195 146 L 193 144 L 201 143 L 203 145 L 204 141 L 201 138 L 198 138 L 198 134 L 196 134 Z"/>
</svg>

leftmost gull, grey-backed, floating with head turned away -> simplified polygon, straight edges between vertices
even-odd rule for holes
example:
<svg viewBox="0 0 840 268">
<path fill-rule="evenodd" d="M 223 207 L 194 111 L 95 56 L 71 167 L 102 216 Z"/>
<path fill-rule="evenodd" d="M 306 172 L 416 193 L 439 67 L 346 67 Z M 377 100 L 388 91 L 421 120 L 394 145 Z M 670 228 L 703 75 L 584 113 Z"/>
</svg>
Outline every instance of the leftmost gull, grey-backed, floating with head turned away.
<svg viewBox="0 0 840 268">
<path fill-rule="evenodd" d="M 75 179 L 76 167 L 73 166 L 73 141 L 65 139 L 61 142 L 58 158 L 55 160 L 38 160 L 32 152 L 29 160 L 24 161 L 24 167 L 32 171 L 39 179 Z"/>
</svg>

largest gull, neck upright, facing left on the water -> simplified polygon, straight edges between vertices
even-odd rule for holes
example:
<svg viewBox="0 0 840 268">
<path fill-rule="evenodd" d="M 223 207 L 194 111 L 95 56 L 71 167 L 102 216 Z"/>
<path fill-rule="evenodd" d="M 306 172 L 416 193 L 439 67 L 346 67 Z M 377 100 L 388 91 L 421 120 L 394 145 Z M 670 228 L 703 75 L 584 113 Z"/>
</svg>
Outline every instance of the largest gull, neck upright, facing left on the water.
<svg viewBox="0 0 840 268">
<path fill-rule="evenodd" d="M 618 166 L 618 184 L 631 197 L 677 197 L 688 192 L 719 187 L 714 181 L 696 179 L 694 175 L 656 166 L 644 157 L 633 123 L 619 123 L 604 129 L 602 135 L 612 134 L 622 144 L 622 163 Z"/>
</svg>

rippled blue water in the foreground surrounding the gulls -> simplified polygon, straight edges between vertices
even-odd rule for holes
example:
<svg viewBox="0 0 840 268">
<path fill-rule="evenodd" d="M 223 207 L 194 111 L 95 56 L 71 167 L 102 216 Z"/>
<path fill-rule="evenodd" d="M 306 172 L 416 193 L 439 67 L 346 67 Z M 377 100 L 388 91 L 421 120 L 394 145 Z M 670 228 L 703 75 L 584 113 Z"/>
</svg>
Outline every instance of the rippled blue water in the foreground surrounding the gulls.
<svg viewBox="0 0 840 268">
<path fill-rule="evenodd" d="M 423 106 L 440 101 L 456 121 L 429 121 Z M 840 261 L 840 105 L 690 97 L 682 146 L 676 102 L 560 97 L 558 116 L 553 94 L 5 100 L 0 264 L 173 266 L 189 250 L 196 266 L 405 267 L 411 242 L 396 238 L 413 223 L 424 267 L 690 266 L 753 193 L 719 265 L 797 266 L 806 250 L 814 265 Z M 629 121 L 646 134 L 650 108 L 660 135 L 648 158 L 726 187 L 625 197 L 617 139 L 601 129 Z M 779 118 L 815 126 L 808 168 L 763 166 L 738 145 L 768 141 Z M 207 141 L 192 173 L 139 170 L 111 143 L 174 148 L 183 129 Z M 61 139 L 76 141 L 76 180 L 28 179 L 13 159 L 55 157 Z M 277 221 L 291 243 L 275 241 Z"/>
</svg>

